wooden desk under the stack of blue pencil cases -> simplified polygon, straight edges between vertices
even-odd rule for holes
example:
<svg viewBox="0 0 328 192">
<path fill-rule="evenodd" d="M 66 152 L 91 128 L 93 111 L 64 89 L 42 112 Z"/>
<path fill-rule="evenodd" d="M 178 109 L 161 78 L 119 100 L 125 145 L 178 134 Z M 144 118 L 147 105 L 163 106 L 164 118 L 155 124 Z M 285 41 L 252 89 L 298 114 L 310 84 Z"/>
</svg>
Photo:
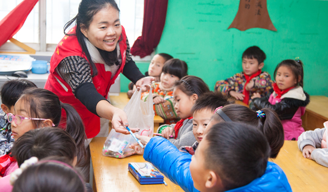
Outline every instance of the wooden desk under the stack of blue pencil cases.
<svg viewBox="0 0 328 192">
<path fill-rule="evenodd" d="M 164 184 L 141 185 L 128 171 L 130 162 L 146 162 L 141 155 L 133 155 L 124 159 L 105 157 L 101 155 L 106 137 L 95 137 L 90 143 L 93 166 L 93 190 L 102 191 L 183 191 L 181 187 L 165 177 L 168 186 Z"/>
</svg>

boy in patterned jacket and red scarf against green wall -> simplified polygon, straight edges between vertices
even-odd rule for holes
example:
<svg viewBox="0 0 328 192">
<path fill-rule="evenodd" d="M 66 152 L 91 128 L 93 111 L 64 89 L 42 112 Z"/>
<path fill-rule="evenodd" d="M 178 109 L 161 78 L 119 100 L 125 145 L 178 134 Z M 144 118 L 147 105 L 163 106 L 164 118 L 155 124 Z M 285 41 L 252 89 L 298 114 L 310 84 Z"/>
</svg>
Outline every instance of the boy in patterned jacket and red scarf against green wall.
<svg viewBox="0 0 328 192">
<path fill-rule="evenodd" d="M 250 103 L 254 93 L 267 96 L 273 81 L 268 72 L 262 71 L 265 58 L 265 53 L 259 47 L 249 47 L 242 53 L 243 71 L 226 80 L 217 81 L 214 90 L 231 95 L 245 104 Z"/>
</svg>

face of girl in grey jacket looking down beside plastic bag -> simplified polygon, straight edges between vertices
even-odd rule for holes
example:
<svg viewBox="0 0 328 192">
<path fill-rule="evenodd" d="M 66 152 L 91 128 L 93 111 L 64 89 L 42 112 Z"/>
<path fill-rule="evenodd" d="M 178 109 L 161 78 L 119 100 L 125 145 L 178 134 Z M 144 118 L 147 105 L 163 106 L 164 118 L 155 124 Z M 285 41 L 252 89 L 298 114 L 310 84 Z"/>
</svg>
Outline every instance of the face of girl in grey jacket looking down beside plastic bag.
<svg viewBox="0 0 328 192">
<path fill-rule="evenodd" d="M 180 89 L 174 88 L 173 97 L 175 100 L 174 109 L 176 114 L 181 119 L 186 119 L 188 117 L 192 117 L 191 108 L 195 104 L 195 101 L 198 99 L 197 94 L 193 94 L 191 96 L 186 95 Z"/>
</svg>

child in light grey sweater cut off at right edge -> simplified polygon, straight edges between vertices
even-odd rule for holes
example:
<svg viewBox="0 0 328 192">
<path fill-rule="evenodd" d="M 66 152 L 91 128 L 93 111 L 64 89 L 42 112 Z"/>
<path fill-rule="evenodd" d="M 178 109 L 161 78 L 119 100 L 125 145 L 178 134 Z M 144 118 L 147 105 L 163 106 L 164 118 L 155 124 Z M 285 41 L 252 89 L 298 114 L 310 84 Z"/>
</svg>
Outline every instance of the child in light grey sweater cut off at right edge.
<svg viewBox="0 0 328 192">
<path fill-rule="evenodd" d="M 312 159 L 318 164 L 328 167 L 328 148 L 327 126 L 328 121 L 324 122 L 324 128 L 314 131 L 303 132 L 298 137 L 298 148 L 303 152 L 303 157 Z"/>
</svg>

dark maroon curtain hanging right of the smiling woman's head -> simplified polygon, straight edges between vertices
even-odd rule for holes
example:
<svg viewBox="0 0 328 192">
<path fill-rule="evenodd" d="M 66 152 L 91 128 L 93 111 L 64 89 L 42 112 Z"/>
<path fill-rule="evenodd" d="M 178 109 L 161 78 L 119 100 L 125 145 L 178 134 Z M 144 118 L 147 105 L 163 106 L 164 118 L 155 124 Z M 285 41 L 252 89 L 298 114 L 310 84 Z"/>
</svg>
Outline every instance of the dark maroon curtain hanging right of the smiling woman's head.
<svg viewBox="0 0 328 192">
<path fill-rule="evenodd" d="M 142 35 L 134 42 L 132 55 L 142 58 L 154 51 L 163 32 L 167 9 L 168 0 L 145 0 Z"/>
</svg>

